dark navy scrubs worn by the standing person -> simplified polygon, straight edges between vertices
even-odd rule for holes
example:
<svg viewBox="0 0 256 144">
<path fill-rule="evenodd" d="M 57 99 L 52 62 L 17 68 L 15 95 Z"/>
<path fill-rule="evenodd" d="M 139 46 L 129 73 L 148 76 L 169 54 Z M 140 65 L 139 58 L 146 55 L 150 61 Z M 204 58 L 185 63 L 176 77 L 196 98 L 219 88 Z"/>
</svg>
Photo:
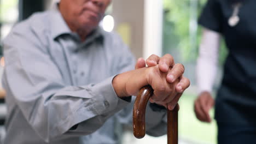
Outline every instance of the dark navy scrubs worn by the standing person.
<svg viewBox="0 0 256 144">
<path fill-rule="evenodd" d="M 240 21 L 231 27 L 237 1 Z M 222 34 L 229 50 L 216 98 L 218 142 L 256 143 L 256 0 L 208 0 L 199 23 Z"/>
</svg>

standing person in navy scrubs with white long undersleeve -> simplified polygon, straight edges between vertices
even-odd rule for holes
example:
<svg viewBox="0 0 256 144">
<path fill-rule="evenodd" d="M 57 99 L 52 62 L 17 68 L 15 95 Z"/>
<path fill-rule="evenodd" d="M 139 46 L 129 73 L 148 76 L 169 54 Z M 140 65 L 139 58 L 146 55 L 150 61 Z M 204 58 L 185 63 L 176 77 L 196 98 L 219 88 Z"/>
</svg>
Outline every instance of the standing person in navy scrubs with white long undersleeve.
<svg viewBox="0 0 256 144">
<path fill-rule="evenodd" d="M 256 143 L 256 1 L 208 0 L 199 19 L 203 27 L 197 60 L 199 96 L 196 117 L 211 122 L 215 105 L 218 143 Z M 219 41 L 229 53 L 217 97 L 212 97 L 216 79 Z"/>
</svg>

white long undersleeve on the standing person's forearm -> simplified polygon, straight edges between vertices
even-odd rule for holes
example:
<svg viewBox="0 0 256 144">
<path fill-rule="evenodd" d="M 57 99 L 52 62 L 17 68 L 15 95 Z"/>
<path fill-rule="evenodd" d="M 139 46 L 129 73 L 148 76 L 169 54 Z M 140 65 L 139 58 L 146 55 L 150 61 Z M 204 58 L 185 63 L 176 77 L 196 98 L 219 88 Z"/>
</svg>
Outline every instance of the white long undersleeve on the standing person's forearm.
<svg viewBox="0 0 256 144">
<path fill-rule="evenodd" d="M 218 69 L 220 35 L 208 29 L 203 29 L 202 40 L 197 58 L 196 80 L 197 91 L 212 92 Z"/>
</svg>

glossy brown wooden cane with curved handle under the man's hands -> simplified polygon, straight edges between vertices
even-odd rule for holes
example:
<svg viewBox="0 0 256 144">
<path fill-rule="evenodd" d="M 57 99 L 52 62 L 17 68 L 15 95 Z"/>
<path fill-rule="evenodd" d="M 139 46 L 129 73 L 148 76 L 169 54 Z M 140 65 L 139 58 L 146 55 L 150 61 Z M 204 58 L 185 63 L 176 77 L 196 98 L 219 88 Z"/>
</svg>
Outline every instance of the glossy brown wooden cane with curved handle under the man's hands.
<svg viewBox="0 0 256 144">
<path fill-rule="evenodd" d="M 151 86 L 146 86 L 139 91 L 133 107 L 133 135 L 141 139 L 146 134 L 145 113 L 149 98 L 153 95 Z M 178 108 L 167 110 L 167 144 L 178 143 Z"/>
</svg>

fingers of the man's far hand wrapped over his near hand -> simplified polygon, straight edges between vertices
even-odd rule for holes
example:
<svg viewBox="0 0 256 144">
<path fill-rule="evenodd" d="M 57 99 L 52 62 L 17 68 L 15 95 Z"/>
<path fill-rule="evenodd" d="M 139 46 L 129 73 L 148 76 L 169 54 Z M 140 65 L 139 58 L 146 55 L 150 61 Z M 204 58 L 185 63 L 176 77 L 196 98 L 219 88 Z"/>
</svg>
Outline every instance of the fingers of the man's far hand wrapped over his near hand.
<svg viewBox="0 0 256 144">
<path fill-rule="evenodd" d="M 159 70 L 161 72 L 167 73 L 166 75 L 167 82 L 171 83 L 172 87 L 175 89 L 175 92 L 173 93 L 175 96 L 171 101 L 170 101 L 171 99 L 171 95 L 170 95 L 169 99 L 164 101 L 164 103 L 162 103 L 163 101 L 160 103 L 159 101 L 155 100 L 154 97 L 150 98 L 150 102 L 163 105 L 169 110 L 172 110 L 174 106 L 177 104 L 177 101 L 179 100 L 179 98 L 181 98 L 181 95 L 184 92 L 184 90 L 187 89 L 190 85 L 189 79 L 183 76 L 183 73 L 184 73 L 183 65 L 174 64 L 173 57 L 169 54 L 166 54 L 163 57 L 151 55 L 146 62 L 143 58 L 139 58 L 136 63 L 135 69 L 146 67 L 146 63 L 148 67 L 154 67 L 155 65 L 158 64 Z"/>
</svg>

